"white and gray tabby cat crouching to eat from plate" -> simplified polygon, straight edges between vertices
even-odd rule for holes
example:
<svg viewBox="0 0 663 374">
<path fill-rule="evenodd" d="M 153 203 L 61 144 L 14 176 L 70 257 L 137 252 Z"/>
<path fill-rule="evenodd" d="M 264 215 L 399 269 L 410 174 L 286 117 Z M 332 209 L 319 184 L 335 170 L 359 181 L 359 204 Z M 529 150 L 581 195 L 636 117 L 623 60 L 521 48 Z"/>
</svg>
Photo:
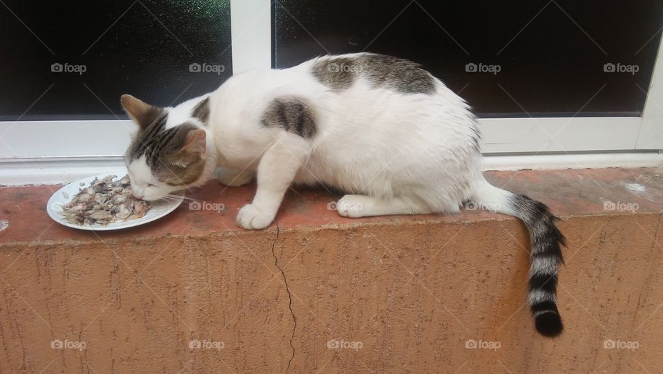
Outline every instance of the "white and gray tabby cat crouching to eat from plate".
<svg viewBox="0 0 663 374">
<path fill-rule="evenodd" d="M 481 173 L 470 107 L 405 59 L 356 53 L 292 68 L 234 75 L 212 93 L 160 108 L 123 95 L 139 131 L 126 152 L 137 198 L 197 187 L 222 167 L 221 183 L 257 176 L 237 223 L 262 229 L 293 184 L 347 192 L 346 217 L 479 209 L 520 218 L 532 243 L 528 302 L 541 335 L 563 330 L 556 287 L 564 236 L 546 205 L 493 187 Z"/>
</svg>

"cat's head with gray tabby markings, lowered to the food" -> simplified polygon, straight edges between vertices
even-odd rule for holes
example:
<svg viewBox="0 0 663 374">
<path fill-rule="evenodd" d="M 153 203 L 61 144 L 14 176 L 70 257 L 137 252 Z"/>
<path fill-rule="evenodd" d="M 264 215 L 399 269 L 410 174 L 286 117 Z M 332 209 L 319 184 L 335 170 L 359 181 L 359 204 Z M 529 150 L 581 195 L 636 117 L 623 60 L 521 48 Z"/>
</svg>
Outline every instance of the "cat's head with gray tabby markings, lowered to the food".
<svg viewBox="0 0 663 374">
<path fill-rule="evenodd" d="M 193 114 L 187 118 L 179 107 L 160 108 L 131 95 L 121 102 L 138 125 L 124 156 L 134 196 L 158 200 L 209 178 L 207 137 Z"/>
</svg>

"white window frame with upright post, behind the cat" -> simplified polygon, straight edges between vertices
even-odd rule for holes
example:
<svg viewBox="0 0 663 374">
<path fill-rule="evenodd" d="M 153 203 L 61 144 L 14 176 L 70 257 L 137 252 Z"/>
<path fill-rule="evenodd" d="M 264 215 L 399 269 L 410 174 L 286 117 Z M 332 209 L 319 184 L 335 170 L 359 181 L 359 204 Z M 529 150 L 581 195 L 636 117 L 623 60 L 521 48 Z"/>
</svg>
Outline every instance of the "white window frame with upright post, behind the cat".
<svg viewBox="0 0 663 374">
<path fill-rule="evenodd" d="M 233 73 L 271 68 L 271 1 L 231 1 Z M 662 38 L 663 41 L 663 38 Z M 484 169 L 663 165 L 663 48 L 642 117 L 483 118 Z M 128 120 L 0 122 L 0 185 L 122 172 Z"/>
</svg>

